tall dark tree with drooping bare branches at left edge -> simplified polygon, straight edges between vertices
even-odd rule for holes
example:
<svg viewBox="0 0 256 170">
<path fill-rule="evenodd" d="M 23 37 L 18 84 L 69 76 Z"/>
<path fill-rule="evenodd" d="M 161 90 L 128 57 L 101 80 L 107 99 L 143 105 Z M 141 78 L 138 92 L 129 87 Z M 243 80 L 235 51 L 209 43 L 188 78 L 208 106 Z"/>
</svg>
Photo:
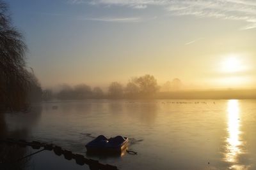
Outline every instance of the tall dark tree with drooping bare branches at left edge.
<svg viewBox="0 0 256 170">
<path fill-rule="evenodd" d="M 6 3 L 0 1 L 0 103 L 1 108 L 20 110 L 26 106 L 30 74 L 26 70 L 26 45 L 12 26 Z"/>
</svg>

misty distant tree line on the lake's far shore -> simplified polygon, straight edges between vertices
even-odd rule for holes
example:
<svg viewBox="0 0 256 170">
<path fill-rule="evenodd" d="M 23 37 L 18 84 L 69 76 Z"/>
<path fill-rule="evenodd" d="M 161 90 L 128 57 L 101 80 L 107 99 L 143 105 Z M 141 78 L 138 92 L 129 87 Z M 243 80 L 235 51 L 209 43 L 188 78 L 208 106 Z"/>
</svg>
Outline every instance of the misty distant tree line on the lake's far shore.
<svg viewBox="0 0 256 170">
<path fill-rule="evenodd" d="M 164 87 L 167 87 L 165 83 Z M 171 86 L 172 85 L 172 86 Z M 179 79 L 174 79 L 170 83 L 170 89 L 179 89 L 181 85 Z M 156 97 L 161 87 L 157 84 L 156 78 L 150 74 L 144 76 L 131 78 L 124 86 L 118 81 L 113 81 L 109 84 L 108 90 L 103 92 L 100 87 L 90 87 L 86 84 L 79 84 L 71 87 L 70 85 L 61 85 L 58 92 L 53 92 L 51 89 L 45 89 L 42 92 L 43 99 L 49 101 L 52 99 L 60 100 L 83 100 L 83 99 L 136 99 L 136 98 L 152 98 Z"/>
</svg>

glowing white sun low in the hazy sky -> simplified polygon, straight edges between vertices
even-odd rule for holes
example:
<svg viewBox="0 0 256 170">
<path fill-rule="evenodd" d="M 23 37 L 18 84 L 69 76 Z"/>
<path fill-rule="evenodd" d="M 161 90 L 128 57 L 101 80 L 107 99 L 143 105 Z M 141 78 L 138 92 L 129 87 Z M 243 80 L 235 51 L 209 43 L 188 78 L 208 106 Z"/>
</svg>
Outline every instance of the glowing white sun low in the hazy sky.
<svg viewBox="0 0 256 170">
<path fill-rule="evenodd" d="M 243 69 L 243 65 L 241 64 L 241 60 L 239 60 L 239 56 L 237 55 L 228 55 L 222 62 L 222 71 L 226 73 L 236 73 Z"/>
</svg>

